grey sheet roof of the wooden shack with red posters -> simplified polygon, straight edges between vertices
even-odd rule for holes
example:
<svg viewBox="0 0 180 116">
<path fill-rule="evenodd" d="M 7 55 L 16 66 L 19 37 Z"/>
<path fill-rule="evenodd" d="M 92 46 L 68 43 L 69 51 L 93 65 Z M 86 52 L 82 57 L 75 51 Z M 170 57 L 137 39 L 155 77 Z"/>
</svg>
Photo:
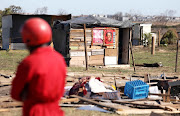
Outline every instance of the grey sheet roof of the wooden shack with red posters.
<svg viewBox="0 0 180 116">
<path fill-rule="evenodd" d="M 71 20 L 63 21 L 61 23 L 69 23 L 72 28 L 82 27 L 83 24 L 86 24 L 87 27 L 100 26 L 100 27 L 117 27 L 117 28 L 131 28 L 133 23 L 131 21 L 118 21 L 105 17 L 78 17 Z"/>
</svg>

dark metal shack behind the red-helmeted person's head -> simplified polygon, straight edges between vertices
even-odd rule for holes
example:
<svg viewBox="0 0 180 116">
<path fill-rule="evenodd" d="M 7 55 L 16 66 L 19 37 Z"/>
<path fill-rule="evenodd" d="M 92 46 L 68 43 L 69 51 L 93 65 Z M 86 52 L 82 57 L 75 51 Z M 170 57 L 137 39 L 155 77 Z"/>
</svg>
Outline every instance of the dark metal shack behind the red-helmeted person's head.
<svg viewBox="0 0 180 116">
<path fill-rule="evenodd" d="M 2 47 L 3 49 L 25 49 L 22 42 L 20 28 L 29 18 L 40 17 L 46 20 L 51 26 L 54 21 L 66 21 L 71 15 L 22 15 L 10 14 L 2 17 Z"/>
</svg>

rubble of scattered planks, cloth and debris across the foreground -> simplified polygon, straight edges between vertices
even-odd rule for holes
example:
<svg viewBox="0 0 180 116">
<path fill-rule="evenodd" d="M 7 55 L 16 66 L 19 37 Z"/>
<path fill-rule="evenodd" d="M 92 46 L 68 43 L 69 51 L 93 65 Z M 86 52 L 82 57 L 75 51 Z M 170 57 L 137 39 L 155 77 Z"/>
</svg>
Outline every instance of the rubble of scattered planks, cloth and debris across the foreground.
<svg viewBox="0 0 180 116">
<path fill-rule="evenodd" d="M 144 80 L 143 83 L 149 86 L 148 91 L 145 91 L 148 96 L 134 99 L 126 96 L 124 92 L 125 83 L 129 82 L 129 77 L 124 75 L 102 74 L 102 77 L 71 75 L 67 82 L 74 85 L 65 87 L 64 97 L 59 101 L 59 106 L 118 114 L 177 114 L 180 113 L 180 80 L 174 77 L 166 78 L 165 75 L 150 74 L 147 77 L 131 76 L 131 80 L 138 82 Z M 106 78 L 111 79 L 112 83 L 106 82 Z M 10 83 L 3 83 L 0 87 L 4 86 L 10 86 Z M 143 88 L 142 85 L 138 86 Z M 22 103 L 12 100 L 9 96 L 1 96 L 0 101 L 0 112 L 22 107 Z"/>
</svg>

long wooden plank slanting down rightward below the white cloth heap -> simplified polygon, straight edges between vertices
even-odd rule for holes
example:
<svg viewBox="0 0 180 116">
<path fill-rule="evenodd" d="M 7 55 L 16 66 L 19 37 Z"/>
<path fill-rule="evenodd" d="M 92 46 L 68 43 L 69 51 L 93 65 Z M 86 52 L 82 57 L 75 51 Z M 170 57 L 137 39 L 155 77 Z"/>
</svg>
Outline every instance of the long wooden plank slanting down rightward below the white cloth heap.
<svg viewBox="0 0 180 116">
<path fill-rule="evenodd" d="M 89 102 L 89 103 L 94 104 L 94 105 L 97 105 L 97 106 L 99 106 L 99 107 L 106 107 L 106 108 L 108 108 L 108 109 L 111 110 L 111 111 L 123 111 L 123 109 L 119 109 L 119 108 L 117 108 L 117 107 L 105 105 L 105 104 L 96 102 L 96 101 L 94 101 L 94 100 L 87 99 L 87 98 L 83 98 L 83 97 L 80 97 L 80 96 L 77 96 L 77 95 L 71 95 L 71 97 L 79 98 L 79 99 L 82 100 L 82 101 Z"/>
</svg>

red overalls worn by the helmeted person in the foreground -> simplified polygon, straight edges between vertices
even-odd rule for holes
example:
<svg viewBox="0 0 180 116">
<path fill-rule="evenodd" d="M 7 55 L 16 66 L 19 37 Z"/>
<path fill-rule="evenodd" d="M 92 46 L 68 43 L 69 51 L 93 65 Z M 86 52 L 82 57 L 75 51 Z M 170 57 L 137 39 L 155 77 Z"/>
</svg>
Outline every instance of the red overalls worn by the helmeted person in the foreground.
<svg viewBox="0 0 180 116">
<path fill-rule="evenodd" d="M 51 47 L 40 47 L 18 66 L 11 96 L 22 101 L 20 95 L 28 85 L 23 116 L 63 116 L 58 102 L 64 93 L 65 78 L 63 57 Z"/>
</svg>

